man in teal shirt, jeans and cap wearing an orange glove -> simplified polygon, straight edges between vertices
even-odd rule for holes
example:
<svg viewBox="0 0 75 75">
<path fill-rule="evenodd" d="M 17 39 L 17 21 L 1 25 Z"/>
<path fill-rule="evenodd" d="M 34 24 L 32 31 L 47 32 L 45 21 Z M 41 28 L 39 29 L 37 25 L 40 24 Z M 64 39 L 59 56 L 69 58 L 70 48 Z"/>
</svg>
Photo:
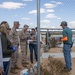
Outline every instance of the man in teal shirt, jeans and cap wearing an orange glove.
<svg viewBox="0 0 75 75">
<path fill-rule="evenodd" d="M 66 21 L 62 21 L 60 26 L 63 28 L 62 31 L 63 38 L 61 39 L 61 41 L 63 42 L 63 54 L 66 63 L 64 69 L 70 71 L 72 69 L 72 62 L 71 62 L 72 31 L 67 26 Z"/>
</svg>

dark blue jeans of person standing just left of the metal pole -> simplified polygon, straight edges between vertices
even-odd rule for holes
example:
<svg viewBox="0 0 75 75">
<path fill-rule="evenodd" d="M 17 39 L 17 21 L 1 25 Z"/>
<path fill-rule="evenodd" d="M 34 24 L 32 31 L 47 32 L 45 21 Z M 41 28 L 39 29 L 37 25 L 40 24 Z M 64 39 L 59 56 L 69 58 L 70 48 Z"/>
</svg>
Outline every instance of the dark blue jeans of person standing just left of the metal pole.
<svg viewBox="0 0 75 75">
<path fill-rule="evenodd" d="M 30 49 L 31 62 L 33 62 L 33 50 L 34 50 L 35 59 L 37 61 L 37 44 L 29 44 L 29 49 Z"/>
</svg>

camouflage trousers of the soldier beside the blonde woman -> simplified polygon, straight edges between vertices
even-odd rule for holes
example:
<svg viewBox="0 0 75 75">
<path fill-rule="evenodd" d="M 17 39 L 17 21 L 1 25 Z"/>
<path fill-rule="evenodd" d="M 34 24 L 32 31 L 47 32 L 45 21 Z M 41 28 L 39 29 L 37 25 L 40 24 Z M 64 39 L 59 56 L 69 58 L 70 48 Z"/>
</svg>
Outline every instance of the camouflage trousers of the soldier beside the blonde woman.
<svg viewBox="0 0 75 75">
<path fill-rule="evenodd" d="M 15 51 L 11 56 L 10 65 L 11 68 L 14 68 L 18 64 L 18 50 Z"/>
</svg>

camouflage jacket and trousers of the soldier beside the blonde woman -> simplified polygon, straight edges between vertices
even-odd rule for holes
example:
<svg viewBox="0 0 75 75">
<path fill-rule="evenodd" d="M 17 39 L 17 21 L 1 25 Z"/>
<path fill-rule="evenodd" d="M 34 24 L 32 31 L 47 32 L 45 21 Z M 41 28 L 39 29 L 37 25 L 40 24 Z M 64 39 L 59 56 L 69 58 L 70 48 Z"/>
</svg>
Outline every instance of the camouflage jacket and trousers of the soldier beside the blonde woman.
<svg viewBox="0 0 75 75">
<path fill-rule="evenodd" d="M 10 31 L 10 34 L 9 34 L 12 38 L 12 46 L 16 45 L 17 46 L 17 49 L 18 49 L 18 45 L 19 45 L 19 40 L 18 40 L 18 32 L 16 31 L 16 29 L 13 27 Z M 11 57 L 11 68 L 14 68 L 16 65 L 18 64 L 18 50 L 15 51 L 13 54 L 12 54 L 12 57 Z"/>
</svg>

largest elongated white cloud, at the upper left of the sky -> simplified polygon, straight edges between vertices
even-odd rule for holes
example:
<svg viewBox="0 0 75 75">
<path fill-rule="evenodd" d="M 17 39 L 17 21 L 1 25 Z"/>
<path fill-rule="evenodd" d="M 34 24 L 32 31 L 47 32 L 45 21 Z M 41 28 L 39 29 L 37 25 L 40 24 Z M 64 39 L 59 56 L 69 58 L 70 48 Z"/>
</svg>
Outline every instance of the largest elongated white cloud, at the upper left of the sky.
<svg viewBox="0 0 75 75">
<path fill-rule="evenodd" d="M 23 6 L 26 6 L 26 4 L 19 2 L 3 2 L 2 4 L 0 4 L 0 8 L 5 8 L 5 9 L 17 9 Z"/>
</svg>

